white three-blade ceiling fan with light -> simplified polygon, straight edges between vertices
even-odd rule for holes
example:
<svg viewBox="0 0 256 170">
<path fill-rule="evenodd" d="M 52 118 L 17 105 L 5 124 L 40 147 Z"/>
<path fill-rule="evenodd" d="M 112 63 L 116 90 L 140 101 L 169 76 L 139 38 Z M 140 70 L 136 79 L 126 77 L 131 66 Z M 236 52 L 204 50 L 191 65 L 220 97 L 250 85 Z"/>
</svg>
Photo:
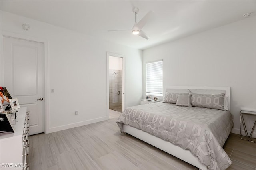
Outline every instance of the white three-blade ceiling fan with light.
<svg viewBox="0 0 256 170">
<path fill-rule="evenodd" d="M 138 8 L 134 8 L 132 10 L 135 14 L 135 24 L 132 27 L 132 30 L 108 30 L 108 31 L 132 31 L 132 34 L 141 36 L 143 38 L 148 39 L 149 36 L 142 31 L 141 29 L 144 27 L 144 25 L 148 22 L 148 20 L 151 18 L 153 11 L 149 11 L 138 23 L 137 23 L 137 14 L 139 12 Z"/>
</svg>

